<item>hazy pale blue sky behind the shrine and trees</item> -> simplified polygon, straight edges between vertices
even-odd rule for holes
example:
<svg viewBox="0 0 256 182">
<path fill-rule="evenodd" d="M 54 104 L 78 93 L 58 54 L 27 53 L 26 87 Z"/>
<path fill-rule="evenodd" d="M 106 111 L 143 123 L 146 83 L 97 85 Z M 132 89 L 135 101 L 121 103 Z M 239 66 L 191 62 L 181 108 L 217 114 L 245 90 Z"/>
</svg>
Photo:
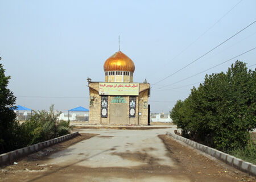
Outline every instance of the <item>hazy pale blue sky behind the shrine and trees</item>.
<svg viewBox="0 0 256 182">
<path fill-rule="evenodd" d="M 51 104 L 60 111 L 89 108 L 86 78 L 105 81 L 103 65 L 118 51 L 120 35 L 121 51 L 135 64 L 134 82 L 146 78 L 151 84 L 151 111 L 167 113 L 205 74 L 225 72 L 237 59 L 256 64 L 254 49 L 180 81 L 256 47 L 254 23 L 175 73 L 255 20 L 255 0 L 0 0 L 1 62 L 11 76 L 16 105 L 34 110 L 48 110 Z"/>
</svg>

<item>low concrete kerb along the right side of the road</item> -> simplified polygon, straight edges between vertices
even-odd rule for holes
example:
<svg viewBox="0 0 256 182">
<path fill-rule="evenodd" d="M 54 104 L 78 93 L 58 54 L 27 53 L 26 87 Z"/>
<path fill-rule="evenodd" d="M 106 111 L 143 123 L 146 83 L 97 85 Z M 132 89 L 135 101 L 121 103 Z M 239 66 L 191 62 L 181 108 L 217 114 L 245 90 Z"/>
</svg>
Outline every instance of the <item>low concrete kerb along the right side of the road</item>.
<svg viewBox="0 0 256 182">
<path fill-rule="evenodd" d="M 252 176 L 256 176 L 256 165 L 254 165 L 254 164 L 245 162 L 242 159 L 238 159 L 232 155 L 225 154 L 224 152 L 221 152 L 214 148 L 194 142 L 192 140 L 181 137 L 179 135 L 175 135 L 170 132 L 167 132 L 166 134 L 177 139 L 177 140 L 180 140 L 181 142 L 188 144 L 189 146 L 191 146 L 193 148 L 196 148 L 197 150 L 205 152 L 206 154 L 209 154 L 216 159 L 222 160 L 226 164 L 229 164 L 230 166 L 233 166 L 233 167 L 239 169 L 240 171 L 249 173 L 249 175 L 252 175 Z"/>
</svg>

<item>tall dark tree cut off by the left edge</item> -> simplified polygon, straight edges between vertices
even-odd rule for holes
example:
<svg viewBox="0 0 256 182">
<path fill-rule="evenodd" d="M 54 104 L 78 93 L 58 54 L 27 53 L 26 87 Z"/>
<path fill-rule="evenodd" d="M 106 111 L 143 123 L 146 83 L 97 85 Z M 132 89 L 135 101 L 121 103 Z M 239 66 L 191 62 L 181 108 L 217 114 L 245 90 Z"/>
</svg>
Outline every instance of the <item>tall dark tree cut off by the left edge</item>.
<svg viewBox="0 0 256 182">
<path fill-rule="evenodd" d="M 1 60 L 1 57 L 0 57 Z M 5 76 L 5 69 L 0 63 L 0 154 L 15 146 L 16 114 L 13 111 L 16 97 L 7 88 L 10 76 Z"/>
</svg>

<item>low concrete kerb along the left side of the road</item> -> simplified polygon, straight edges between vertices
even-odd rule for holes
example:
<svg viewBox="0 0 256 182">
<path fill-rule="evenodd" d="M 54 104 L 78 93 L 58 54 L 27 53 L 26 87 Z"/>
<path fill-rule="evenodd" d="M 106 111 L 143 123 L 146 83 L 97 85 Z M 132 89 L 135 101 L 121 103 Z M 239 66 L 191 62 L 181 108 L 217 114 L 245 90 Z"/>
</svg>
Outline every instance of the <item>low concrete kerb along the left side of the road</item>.
<svg viewBox="0 0 256 182">
<path fill-rule="evenodd" d="M 14 162 L 15 159 L 21 158 L 23 156 L 27 156 L 28 154 L 37 152 L 39 150 L 42 150 L 43 148 L 52 146 L 53 144 L 60 143 L 65 140 L 71 139 L 71 138 L 77 136 L 78 134 L 79 133 L 77 131 L 75 133 L 64 135 L 62 137 L 53 138 L 53 139 L 47 140 L 45 142 L 36 143 L 36 144 L 33 144 L 32 146 L 19 148 L 17 150 L 11 151 L 11 152 L 1 154 L 0 155 L 0 166 L 5 165 L 5 164 L 11 164 Z"/>
</svg>

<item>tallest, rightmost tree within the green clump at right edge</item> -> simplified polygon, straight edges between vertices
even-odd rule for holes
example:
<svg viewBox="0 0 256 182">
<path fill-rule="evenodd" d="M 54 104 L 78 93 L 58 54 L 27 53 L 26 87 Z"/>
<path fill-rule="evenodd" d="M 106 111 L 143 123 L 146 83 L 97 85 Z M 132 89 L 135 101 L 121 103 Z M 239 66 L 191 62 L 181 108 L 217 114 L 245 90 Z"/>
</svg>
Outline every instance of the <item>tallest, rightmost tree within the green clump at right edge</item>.
<svg viewBox="0 0 256 182">
<path fill-rule="evenodd" d="M 241 61 L 236 61 L 226 72 L 226 84 L 218 92 L 222 101 L 218 103 L 219 122 L 215 127 L 217 148 L 231 150 L 250 143 L 249 131 L 256 127 L 255 78 L 255 71 L 248 71 Z"/>
</svg>

